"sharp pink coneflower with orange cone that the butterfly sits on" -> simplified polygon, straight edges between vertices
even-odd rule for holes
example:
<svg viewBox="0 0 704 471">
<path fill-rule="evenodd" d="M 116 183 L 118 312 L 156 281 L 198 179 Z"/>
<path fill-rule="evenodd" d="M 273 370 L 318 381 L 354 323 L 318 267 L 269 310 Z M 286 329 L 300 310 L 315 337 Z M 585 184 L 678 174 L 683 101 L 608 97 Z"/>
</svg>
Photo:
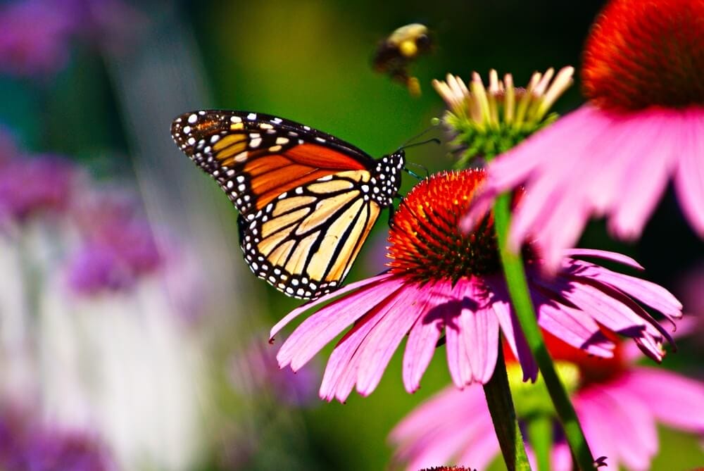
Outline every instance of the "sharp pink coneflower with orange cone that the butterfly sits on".
<svg viewBox="0 0 704 471">
<path fill-rule="evenodd" d="M 417 184 L 394 216 L 389 235 L 389 270 L 297 308 L 272 328 L 271 336 L 307 310 L 344 294 L 303 321 L 284 342 L 279 366 L 298 370 L 353 325 L 334 348 L 320 396 L 344 401 L 353 387 L 370 394 L 394 351 L 408 334 L 403 383 L 415 391 L 444 335 L 448 367 L 457 387 L 484 383 L 496 364 L 499 329 L 519 358 L 524 378 L 536 365 L 508 302 L 491 218 L 465 234 L 458 222 L 484 180 L 482 170 L 442 172 Z M 635 339 L 649 356 L 662 357 L 669 339 L 635 300 L 679 318 L 681 306 L 662 287 L 612 272 L 577 256 L 606 258 L 639 268 L 625 256 L 575 250 L 558 276 L 539 275 L 541 260 L 524 247 L 539 324 L 595 356 L 612 356 L 613 342 L 601 327 Z"/>
</svg>

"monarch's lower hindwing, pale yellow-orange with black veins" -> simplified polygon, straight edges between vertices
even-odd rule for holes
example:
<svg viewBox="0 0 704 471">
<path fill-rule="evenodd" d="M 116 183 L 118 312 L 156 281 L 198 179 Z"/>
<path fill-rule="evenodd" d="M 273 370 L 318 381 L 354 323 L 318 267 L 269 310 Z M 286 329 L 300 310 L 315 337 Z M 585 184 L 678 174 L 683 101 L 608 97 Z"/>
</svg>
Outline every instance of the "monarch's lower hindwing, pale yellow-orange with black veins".
<svg viewBox="0 0 704 471">
<path fill-rule="evenodd" d="M 363 192 L 369 180 L 367 170 L 338 172 L 240 215 L 241 248 L 252 272 L 301 299 L 337 289 L 382 210 Z"/>
</svg>

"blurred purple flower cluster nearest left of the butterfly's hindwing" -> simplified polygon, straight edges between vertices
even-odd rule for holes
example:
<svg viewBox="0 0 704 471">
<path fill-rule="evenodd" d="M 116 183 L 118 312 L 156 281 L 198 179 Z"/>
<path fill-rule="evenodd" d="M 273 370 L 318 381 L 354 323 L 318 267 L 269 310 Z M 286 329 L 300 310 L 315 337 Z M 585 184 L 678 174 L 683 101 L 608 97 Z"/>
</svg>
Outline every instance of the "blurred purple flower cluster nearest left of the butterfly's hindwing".
<svg viewBox="0 0 704 471">
<path fill-rule="evenodd" d="M 125 195 L 89 195 L 75 217 L 84 245 L 70 260 L 67 276 L 77 293 L 124 289 L 161 266 L 149 222 Z"/>
</svg>

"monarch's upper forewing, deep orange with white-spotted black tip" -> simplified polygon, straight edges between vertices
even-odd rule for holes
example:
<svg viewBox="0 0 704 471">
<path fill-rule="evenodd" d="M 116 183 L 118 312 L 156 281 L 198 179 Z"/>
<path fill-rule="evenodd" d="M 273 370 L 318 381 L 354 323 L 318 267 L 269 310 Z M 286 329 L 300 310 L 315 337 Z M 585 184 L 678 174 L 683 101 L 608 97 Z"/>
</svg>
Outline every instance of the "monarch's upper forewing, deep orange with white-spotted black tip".
<svg viewBox="0 0 704 471">
<path fill-rule="evenodd" d="M 341 139 L 263 113 L 184 113 L 174 120 L 171 135 L 243 215 L 301 184 L 375 164 Z"/>
</svg>

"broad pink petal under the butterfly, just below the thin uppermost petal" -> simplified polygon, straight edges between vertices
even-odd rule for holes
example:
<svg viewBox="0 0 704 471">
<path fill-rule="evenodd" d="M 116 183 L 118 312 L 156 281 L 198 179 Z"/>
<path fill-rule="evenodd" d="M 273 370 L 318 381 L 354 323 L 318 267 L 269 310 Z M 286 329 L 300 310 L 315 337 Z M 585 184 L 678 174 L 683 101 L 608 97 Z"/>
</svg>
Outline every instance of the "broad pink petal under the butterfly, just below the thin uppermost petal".
<svg viewBox="0 0 704 471">
<path fill-rule="evenodd" d="M 389 278 L 318 310 L 284 341 L 276 356 L 279 366 L 283 368 L 290 363 L 292 370 L 298 370 L 345 327 L 377 304 L 383 304 L 385 299 L 392 298 L 404 283 L 403 278 Z"/>
</svg>

